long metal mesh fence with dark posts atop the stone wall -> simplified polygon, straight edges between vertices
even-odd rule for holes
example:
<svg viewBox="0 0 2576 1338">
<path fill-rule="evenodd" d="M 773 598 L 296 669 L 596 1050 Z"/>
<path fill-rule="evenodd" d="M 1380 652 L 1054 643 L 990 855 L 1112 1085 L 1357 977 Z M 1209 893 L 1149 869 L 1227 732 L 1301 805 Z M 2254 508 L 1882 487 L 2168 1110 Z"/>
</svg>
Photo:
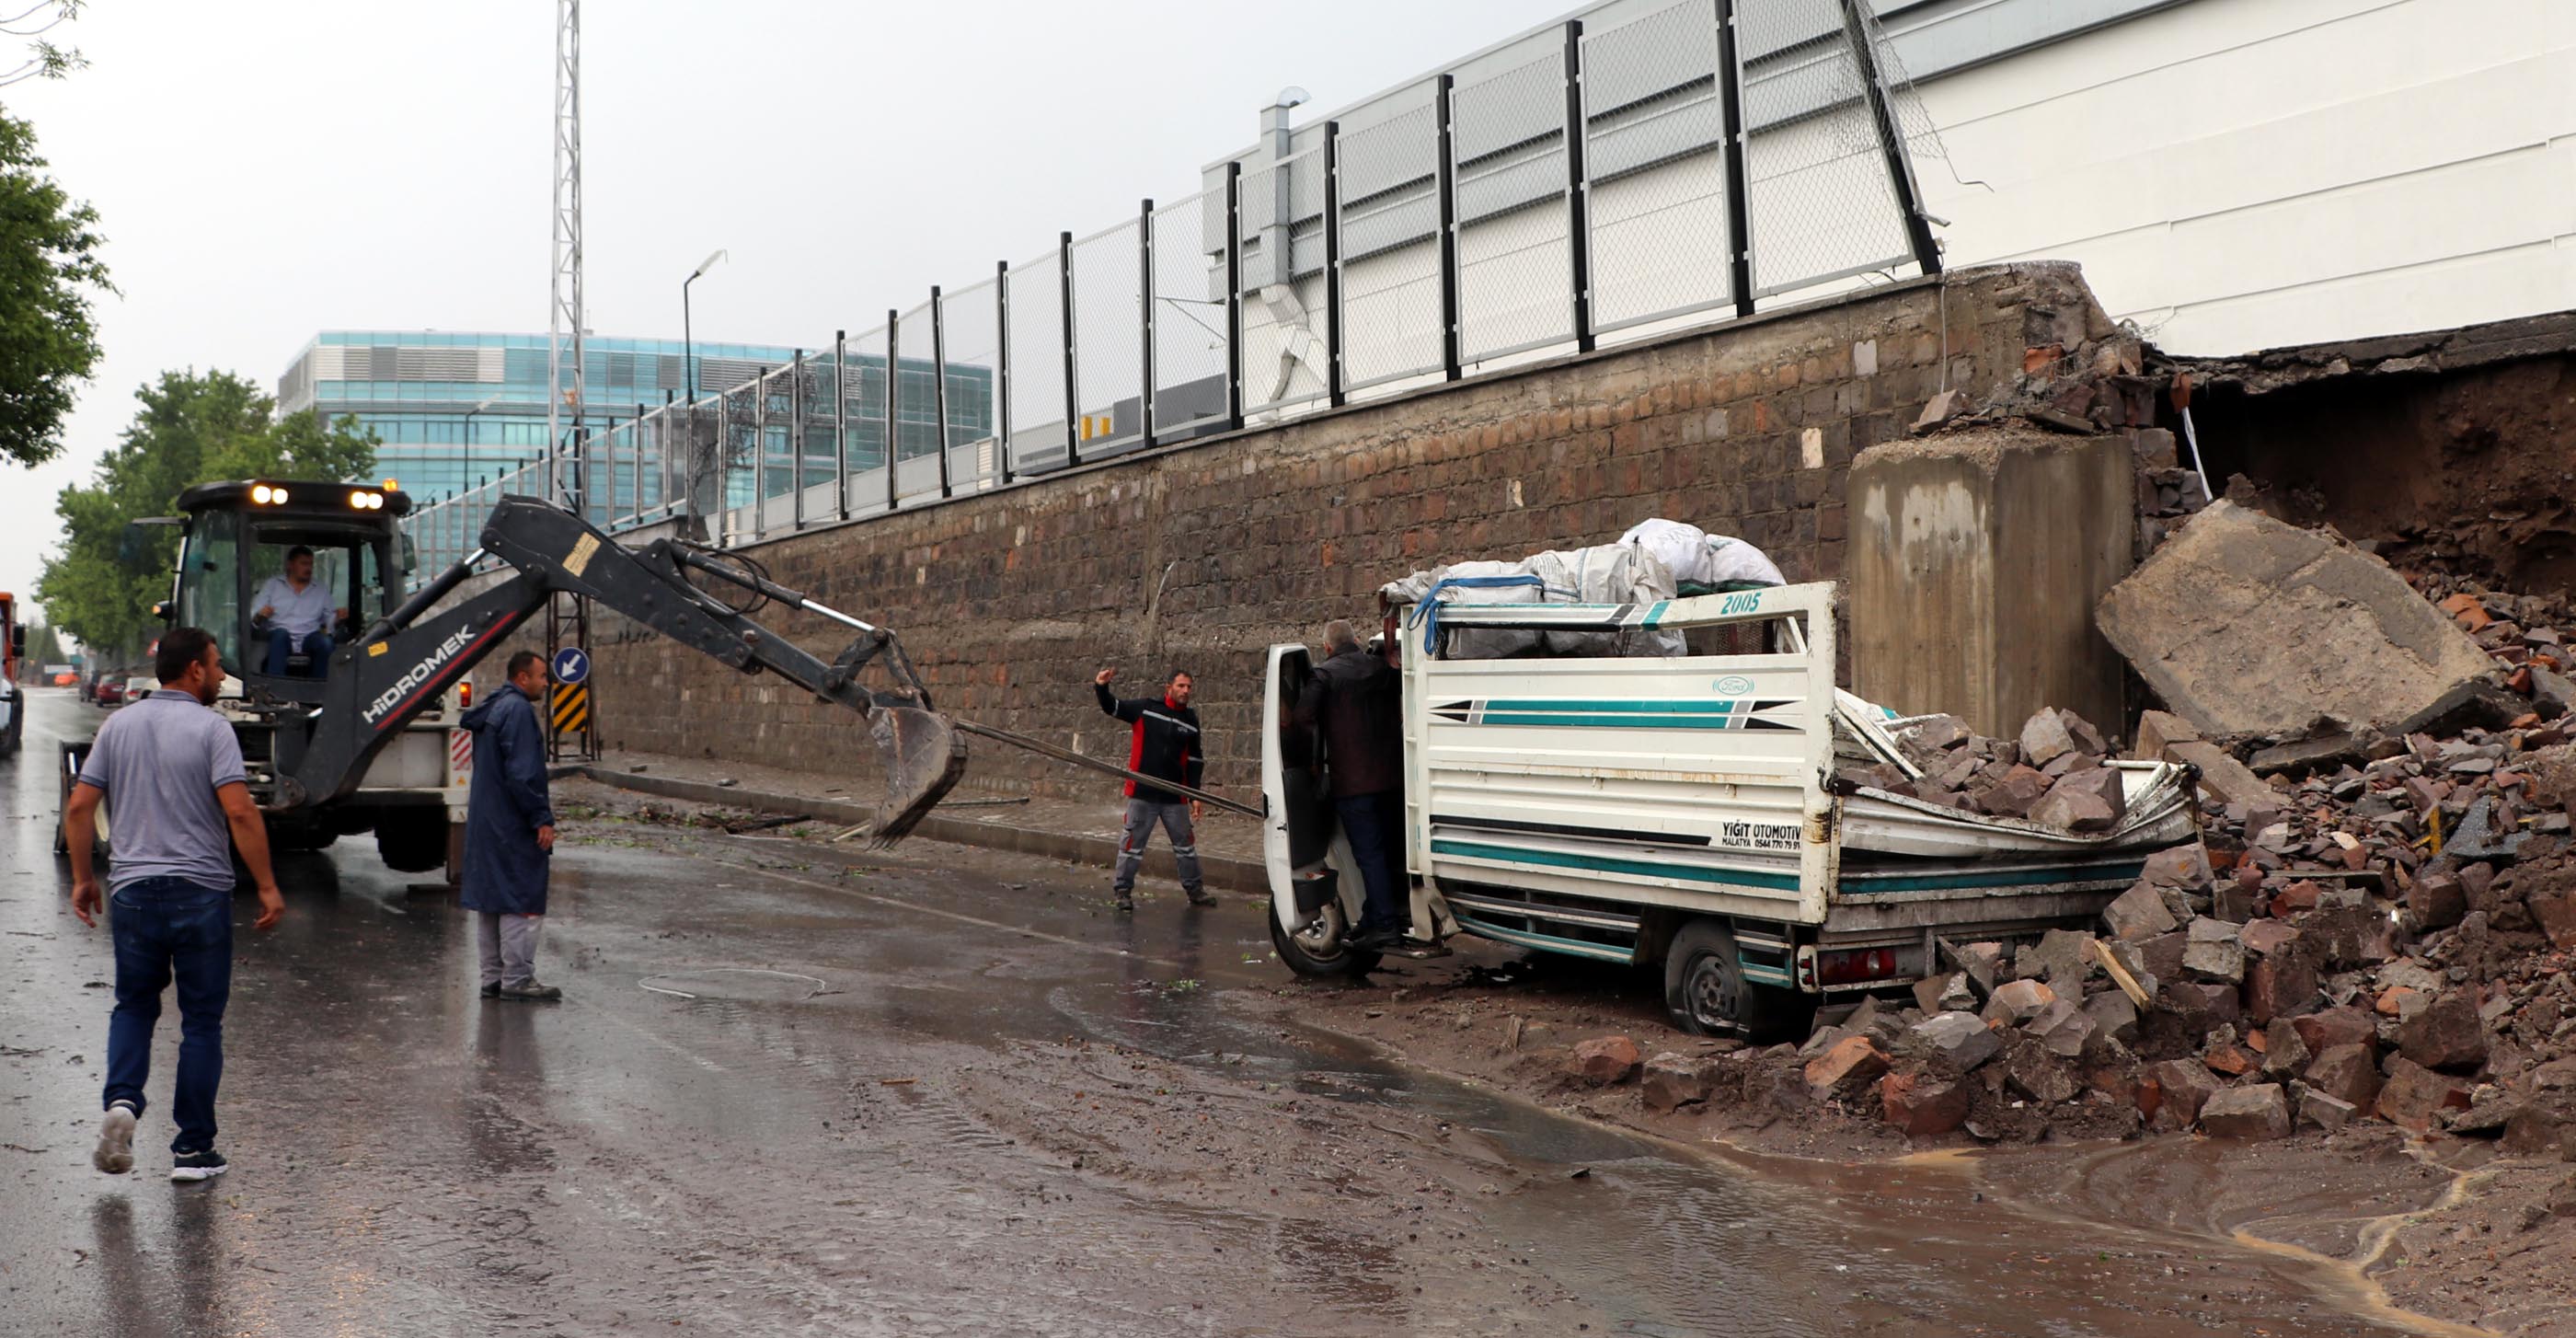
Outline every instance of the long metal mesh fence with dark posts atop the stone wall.
<svg viewBox="0 0 2576 1338">
<path fill-rule="evenodd" d="M 1203 175 L 1195 196 L 845 340 L 837 364 L 703 358 L 701 405 L 590 418 L 585 464 L 564 482 L 611 528 L 685 508 L 747 539 L 876 510 L 889 490 L 930 495 L 940 464 L 953 487 L 989 487 L 1064 467 L 1069 438 L 1097 459 L 1146 433 L 1226 423 L 1231 407 L 1252 420 L 1296 412 L 1327 397 L 1334 366 L 1345 392 L 1437 376 L 1450 333 L 1466 366 L 1564 348 L 1577 273 L 1589 333 L 1605 335 L 1911 263 L 1899 183 L 1942 150 L 1873 10 L 1741 0 L 1736 13 L 1741 70 L 1721 70 L 1705 0 L 1607 0 L 1571 15 L 1579 28 L 1453 67 L 1448 126 L 1443 80 L 1394 88 L 1332 126 L 1298 129 L 1303 152 L 1244 155 Z M 1870 62 L 1852 52 L 1855 26 Z M 1901 139 L 1893 162 L 1870 64 Z M 1741 88 L 1744 199 L 1728 199 L 1728 88 Z M 1749 294 L 1736 291 L 1731 240 L 1749 255 Z M 1334 291 L 1340 312 L 1327 312 Z M 469 552 L 505 490 L 544 495 L 549 472 L 428 500 L 407 518 L 422 565 Z"/>
</svg>

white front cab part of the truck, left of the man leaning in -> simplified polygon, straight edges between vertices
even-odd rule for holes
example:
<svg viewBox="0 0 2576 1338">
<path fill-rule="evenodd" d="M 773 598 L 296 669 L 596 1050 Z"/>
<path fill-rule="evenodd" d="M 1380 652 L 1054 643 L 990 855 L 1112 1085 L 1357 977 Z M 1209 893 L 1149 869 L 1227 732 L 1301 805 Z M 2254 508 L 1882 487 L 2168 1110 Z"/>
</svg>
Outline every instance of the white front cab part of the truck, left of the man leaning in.
<svg viewBox="0 0 2576 1338">
<path fill-rule="evenodd" d="M 1270 946 L 1296 974 L 1360 974 L 1378 954 L 1347 944 L 1360 923 L 1360 877 L 1332 815 L 1321 750 L 1291 724 L 1314 683 L 1301 645 L 1270 647 L 1262 675 L 1262 864 L 1270 869 Z"/>
</svg>

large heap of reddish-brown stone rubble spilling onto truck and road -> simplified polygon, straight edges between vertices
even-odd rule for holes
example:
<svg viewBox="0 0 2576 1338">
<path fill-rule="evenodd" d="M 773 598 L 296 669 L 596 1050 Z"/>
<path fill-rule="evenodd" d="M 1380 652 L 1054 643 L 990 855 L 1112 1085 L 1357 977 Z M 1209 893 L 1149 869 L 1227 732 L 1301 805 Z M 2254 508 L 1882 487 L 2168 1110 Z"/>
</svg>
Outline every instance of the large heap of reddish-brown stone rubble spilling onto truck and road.
<svg viewBox="0 0 2576 1338">
<path fill-rule="evenodd" d="M 2326 557 L 2349 567 L 2334 580 L 2352 590 L 2380 580 L 2367 567 L 2398 580 L 2349 547 Z M 2249 701 L 2177 678 L 2177 714 L 2148 712 L 2130 755 L 2200 771 L 2202 840 L 2151 856 L 2099 931 L 2020 949 L 1942 941 L 1945 969 L 1911 1005 L 1868 1000 L 1803 1047 L 1595 1054 L 1577 1078 L 1641 1078 L 1649 1109 L 1821 1106 L 1909 1137 L 2287 1137 L 2375 1119 L 2576 1160 L 2576 637 L 2561 632 L 2576 614 L 2445 575 L 2406 588 L 2406 608 L 2370 606 L 2385 637 L 2352 639 L 2411 647 L 2403 717 L 2210 730 L 2182 712 L 2208 722 Z M 2473 642 L 2483 673 L 2424 688 L 2468 650 L 2432 645 L 2424 621 Z M 2367 678 L 2300 678 L 2285 660 L 2313 652 L 2306 639 L 2246 637 L 2236 652 L 2269 655 L 2249 675 L 2272 675 L 2254 706 L 2370 701 Z M 2048 810 L 2071 779 L 2110 773 L 2105 755 L 2099 732 L 2063 712 L 2009 742 L 1935 719 L 1906 740 L 1924 776 L 1842 779 L 2105 830 L 2099 815 L 2079 828 Z"/>
</svg>

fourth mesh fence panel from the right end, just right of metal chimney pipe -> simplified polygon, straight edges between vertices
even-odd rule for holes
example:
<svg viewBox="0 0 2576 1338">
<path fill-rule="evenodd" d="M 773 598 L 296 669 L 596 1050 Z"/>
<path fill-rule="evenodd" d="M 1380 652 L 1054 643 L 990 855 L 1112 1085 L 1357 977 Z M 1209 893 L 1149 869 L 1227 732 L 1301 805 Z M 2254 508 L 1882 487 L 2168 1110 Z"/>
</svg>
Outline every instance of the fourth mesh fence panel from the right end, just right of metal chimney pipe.
<svg viewBox="0 0 2576 1338">
<path fill-rule="evenodd" d="M 1345 131 L 1334 170 L 1342 389 L 1440 371 L 1440 108 L 1425 103 Z"/>
</svg>

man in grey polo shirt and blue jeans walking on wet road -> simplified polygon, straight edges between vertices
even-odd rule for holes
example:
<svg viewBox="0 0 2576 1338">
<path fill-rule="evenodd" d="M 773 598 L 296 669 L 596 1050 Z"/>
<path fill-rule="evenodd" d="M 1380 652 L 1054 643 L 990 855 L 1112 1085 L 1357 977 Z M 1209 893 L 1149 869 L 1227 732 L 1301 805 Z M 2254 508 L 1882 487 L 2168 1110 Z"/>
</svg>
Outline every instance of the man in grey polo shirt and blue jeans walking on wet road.
<svg viewBox="0 0 2576 1338">
<path fill-rule="evenodd" d="M 214 1150 L 214 1091 L 224 1080 L 224 1003 L 232 998 L 232 851 L 260 889 L 270 928 L 286 913 L 268 871 L 268 828 L 250 802 L 242 745 L 214 714 L 224 660 L 196 626 L 162 634 L 152 655 L 160 691 L 98 727 L 80 768 L 62 835 L 72 851 L 72 915 L 98 926 L 98 804 L 113 817 L 108 900 L 116 902 L 116 1011 L 108 1013 L 108 1109 L 90 1163 L 111 1176 L 134 1168 L 134 1121 L 144 1114 L 160 995 L 178 982 L 178 1085 L 170 1114 L 170 1178 L 227 1170 Z"/>
</svg>

